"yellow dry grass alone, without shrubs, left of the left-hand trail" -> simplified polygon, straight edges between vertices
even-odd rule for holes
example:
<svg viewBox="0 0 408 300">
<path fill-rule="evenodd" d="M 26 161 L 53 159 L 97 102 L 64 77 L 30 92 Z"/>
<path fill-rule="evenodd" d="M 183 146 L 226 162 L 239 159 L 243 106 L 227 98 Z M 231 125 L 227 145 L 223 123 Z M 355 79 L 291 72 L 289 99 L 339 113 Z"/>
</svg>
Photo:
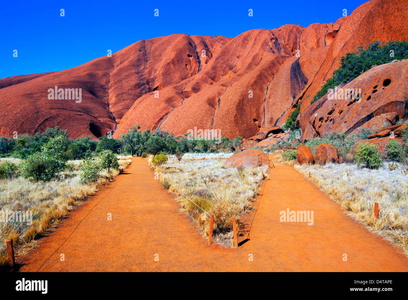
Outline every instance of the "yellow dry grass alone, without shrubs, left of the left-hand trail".
<svg viewBox="0 0 408 300">
<path fill-rule="evenodd" d="M 131 160 L 119 160 L 125 169 Z M 0 267 L 7 263 L 6 241 L 13 239 L 16 255 L 26 254 L 35 246 L 35 238 L 57 225 L 74 205 L 86 200 L 119 170 L 100 171 L 96 182 L 84 184 L 79 179 L 80 160 L 69 161 L 72 171 L 66 169 L 49 182 L 30 182 L 22 177 L 0 180 L 0 211 L 32 211 L 32 224 L 27 222 L 0 222 Z M 59 179 L 58 179 L 59 178 Z"/>
</svg>

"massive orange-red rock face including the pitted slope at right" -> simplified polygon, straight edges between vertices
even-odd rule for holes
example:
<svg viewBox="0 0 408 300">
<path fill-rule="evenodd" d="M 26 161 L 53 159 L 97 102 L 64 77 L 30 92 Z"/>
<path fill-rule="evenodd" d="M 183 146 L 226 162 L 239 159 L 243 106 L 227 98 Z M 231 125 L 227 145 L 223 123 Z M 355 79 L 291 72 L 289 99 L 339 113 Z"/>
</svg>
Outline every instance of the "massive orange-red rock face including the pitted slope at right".
<svg viewBox="0 0 408 300">
<path fill-rule="evenodd" d="M 253 29 L 235 38 L 174 34 L 69 70 L 4 78 L 0 135 L 55 125 L 72 138 L 108 131 L 119 137 L 135 125 L 175 135 L 197 127 L 229 138 L 258 134 L 244 144 L 268 145 L 279 138 L 265 141 L 270 133 L 260 129 L 282 126 L 299 102 L 302 140 L 362 127 L 379 131 L 408 117 L 407 62 L 373 67 L 349 82 L 364 90 L 361 103 L 310 100 L 341 56 L 374 40 L 408 40 L 407 15 L 406 1 L 371 0 L 333 23 Z M 81 101 L 48 99 L 55 86 L 81 89 Z"/>
</svg>

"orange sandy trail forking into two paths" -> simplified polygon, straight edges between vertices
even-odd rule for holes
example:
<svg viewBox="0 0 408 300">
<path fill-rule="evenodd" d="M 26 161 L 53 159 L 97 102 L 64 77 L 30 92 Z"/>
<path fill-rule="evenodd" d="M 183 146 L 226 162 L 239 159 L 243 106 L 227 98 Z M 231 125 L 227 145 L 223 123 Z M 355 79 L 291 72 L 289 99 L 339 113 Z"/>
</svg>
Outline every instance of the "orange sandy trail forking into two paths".
<svg viewBox="0 0 408 300">
<path fill-rule="evenodd" d="M 238 249 L 208 246 L 146 160 L 133 158 L 108 189 L 18 258 L 20 271 L 408 271 L 401 250 L 342 213 L 293 167 L 275 166 L 254 203 L 257 212 L 243 219 L 246 229 L 253 224 Z M 288 208 L 314 211 L 313 226 L 280 222 L 279 212 Z"/>
</svg>

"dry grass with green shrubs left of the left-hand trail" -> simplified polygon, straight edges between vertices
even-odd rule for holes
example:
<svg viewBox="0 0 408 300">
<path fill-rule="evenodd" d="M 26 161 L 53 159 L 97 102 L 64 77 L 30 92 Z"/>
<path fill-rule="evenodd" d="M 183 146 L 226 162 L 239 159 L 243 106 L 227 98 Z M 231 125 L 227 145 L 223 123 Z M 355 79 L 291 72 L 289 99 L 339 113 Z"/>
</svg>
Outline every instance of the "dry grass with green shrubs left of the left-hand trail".
<svg viewBox="0 0 408 300">
<path fill-rule="evenodd" d="M 2 160 L 0 166 L 8 166 L 5 169 L 13 170 L 11 173 L 14 175 L 0 179 L 0 211 L 32 211 L 33 220 L 32 224 L 27 224 L 27 222 L 0 223 L 0 240 L 2 241 L 0 243 L 0 269 L 4 268 L 7 262 L 6 240 L 13 239 L 16 255 L 24 255 L 37 243 L 35 238 L 38 235 L 58 224 L 74 204 L 80 204 L 86 196 L 95 193 L 98 186 L 104 183 L 105 178 L 111 179 L 119 173 L 118 169 L 111 169 L 109 172 L 95 172 L 95 166 L 96 169 L 99 169 L 98 162 L 87 158 L 85 161 L 92 165 L 93 180 L 81 178 L 86 166 L 80 160 L 68 162 L 64 170 L 50 176 L 47 171 L 50 165 L 49 158 L 38 153 L 35 154 L 36 161 L 33 164 L 27 164 L 32 175 L 24 178 L 19 176 L 18 171 L 14 172 L 18 166 L 16 163 L 10 159 Z M 120 159 L 118 165 L 125 169 L 130 162 L 128 158 Z M 11 164 L 14 167 L 11 167 Z M 24 161 L 22 165 L 24 166 Z M 42 173 L 40 170 L 43 168 L 45 171 Z M 30 173 L 27 169 L 23 169 L 22 173 L 24 172 Z"/>
</svg>

